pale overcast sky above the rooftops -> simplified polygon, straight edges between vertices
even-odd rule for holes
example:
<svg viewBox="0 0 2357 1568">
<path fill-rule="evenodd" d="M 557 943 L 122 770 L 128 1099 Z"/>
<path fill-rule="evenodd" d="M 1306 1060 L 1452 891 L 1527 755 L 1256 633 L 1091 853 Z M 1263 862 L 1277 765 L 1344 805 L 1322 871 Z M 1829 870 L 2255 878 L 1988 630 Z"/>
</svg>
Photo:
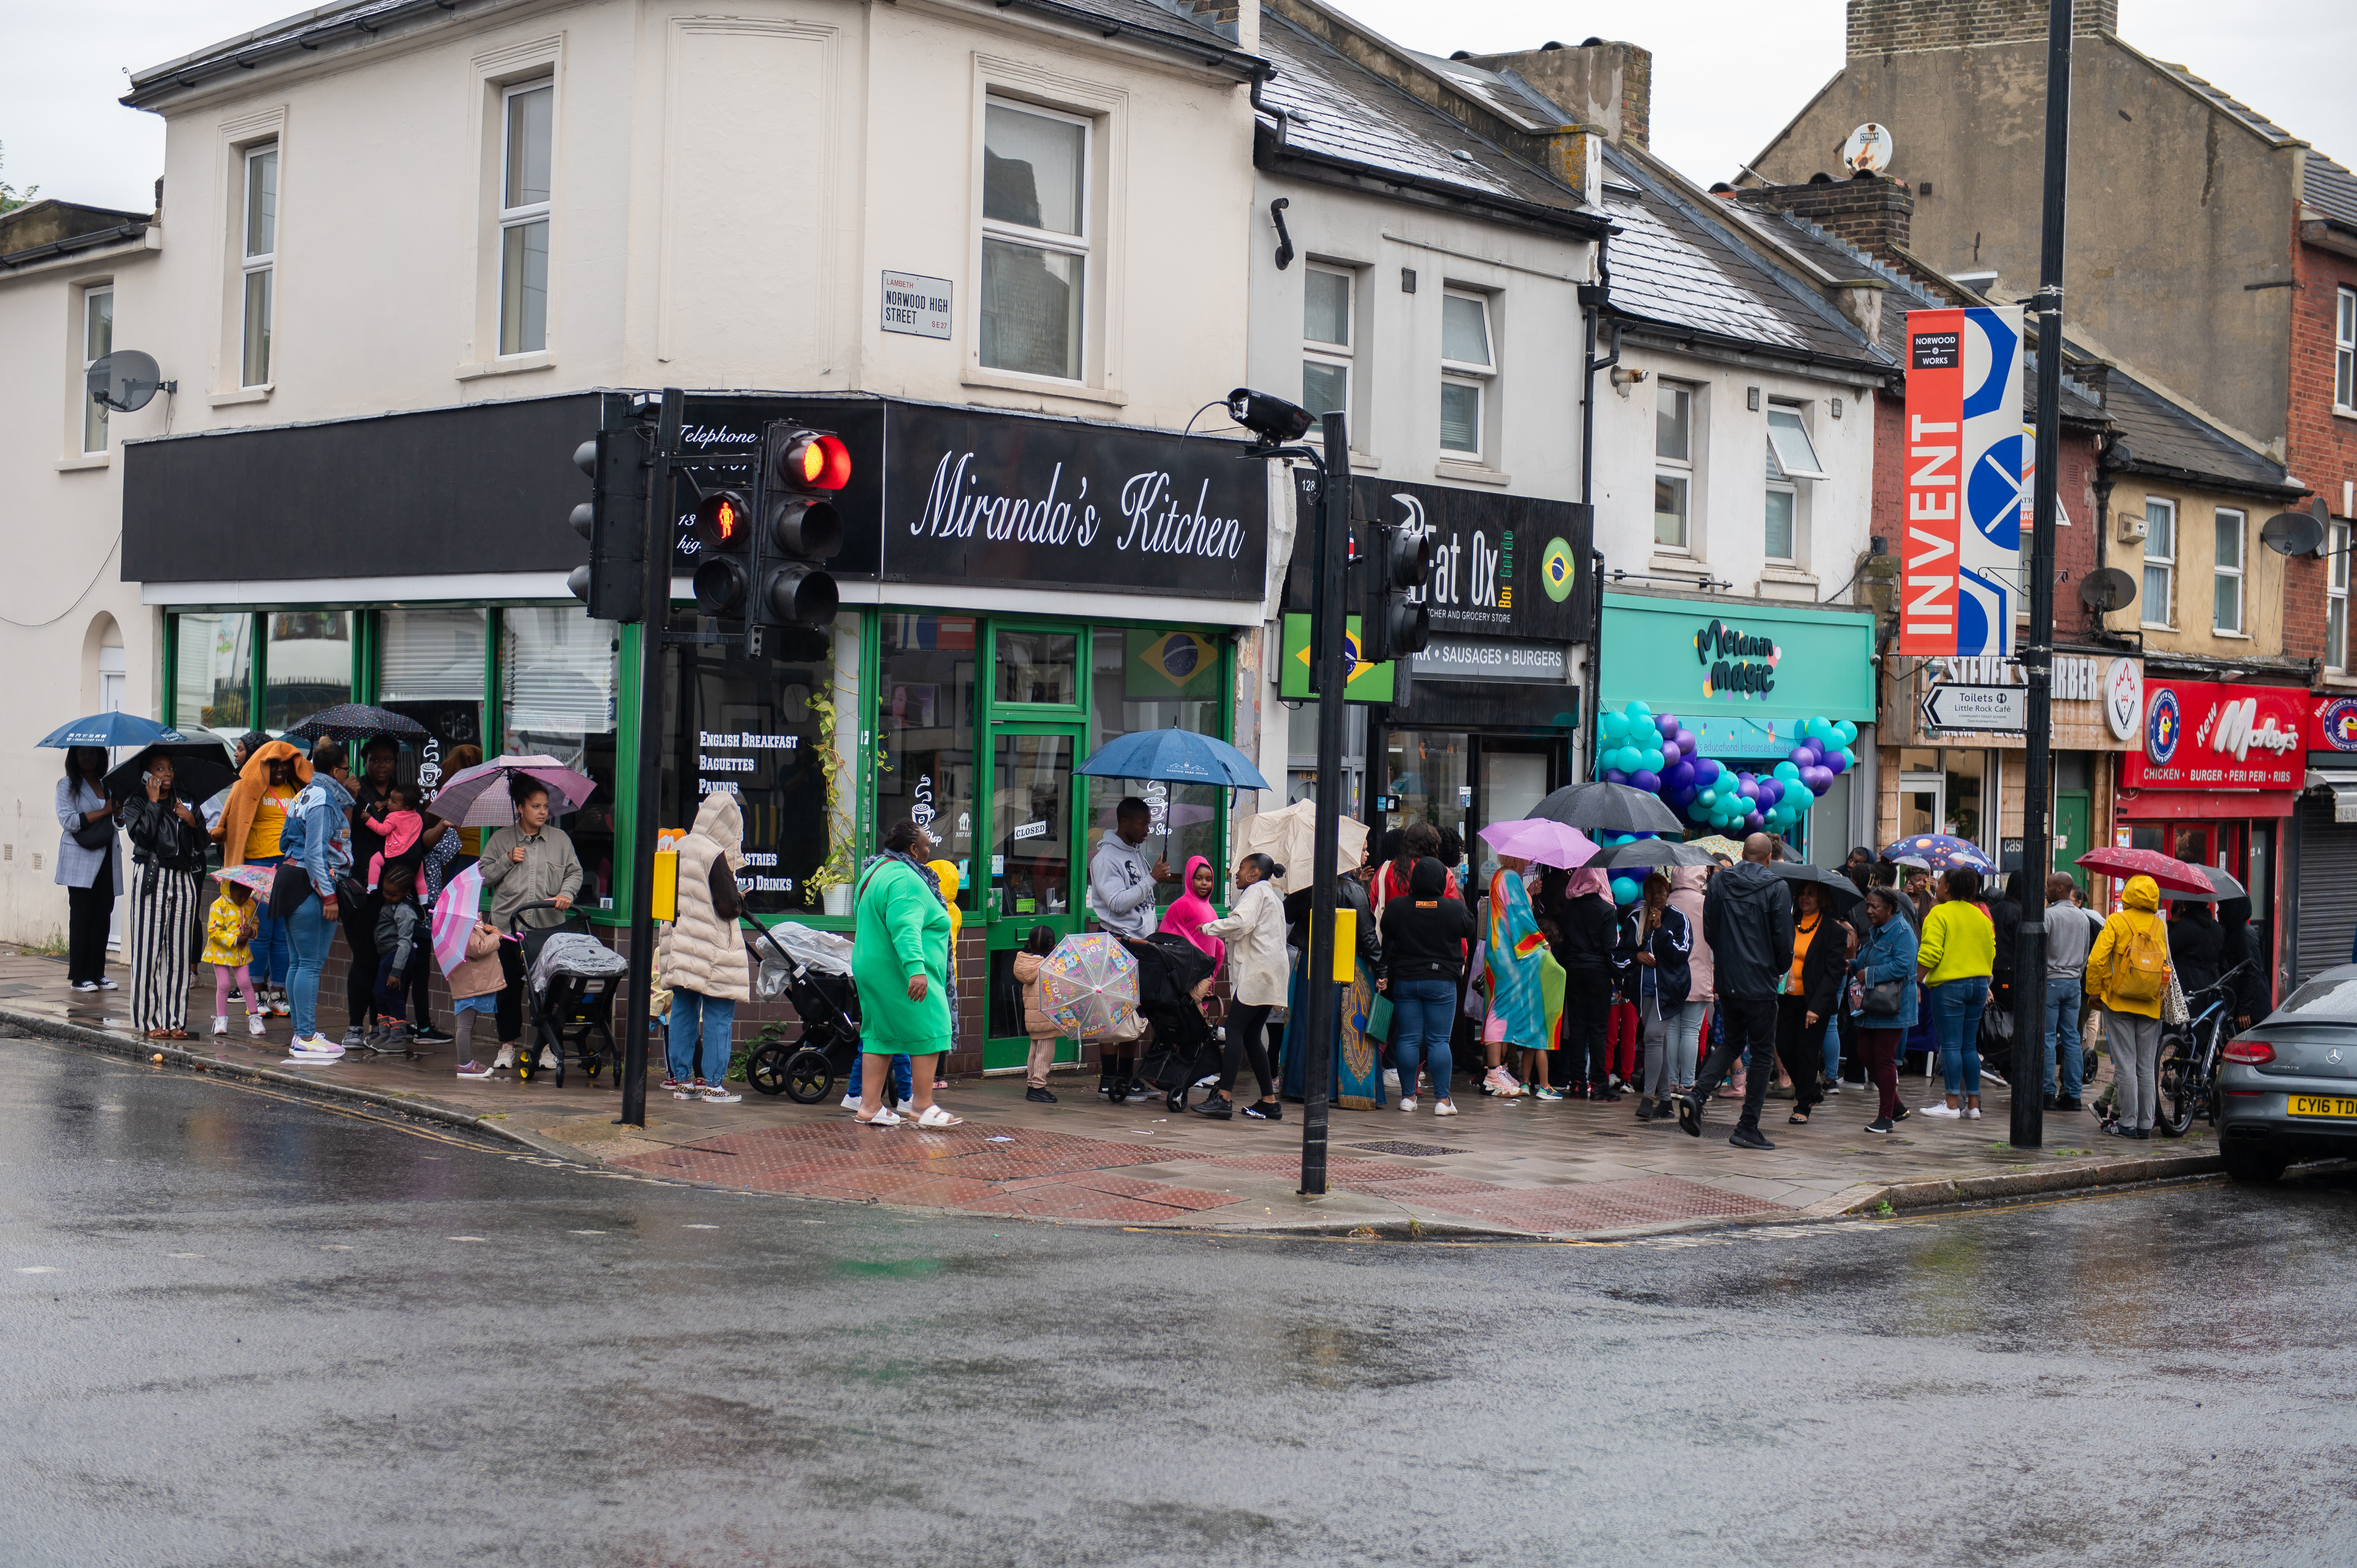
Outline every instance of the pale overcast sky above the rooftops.
<svg viewBox="0 0 2357 1568">
<path fill-rule="evenodd" d="M 1433 54 L 1626 38 L 1652 50 L 1652 146 L 1711 182 L 1751 158 L 1841 66 L 1843 0 L 1341 0 Z M 163 120 L 123 108 L 146 68 L 302 9 L 299 0 L 0 0 L 0 179 L 144 212 Z M 2357 160 L 2357 5 L 2121 0 L 2119 31 L 2183 61 L 2341 163 Z"/>
</svg>

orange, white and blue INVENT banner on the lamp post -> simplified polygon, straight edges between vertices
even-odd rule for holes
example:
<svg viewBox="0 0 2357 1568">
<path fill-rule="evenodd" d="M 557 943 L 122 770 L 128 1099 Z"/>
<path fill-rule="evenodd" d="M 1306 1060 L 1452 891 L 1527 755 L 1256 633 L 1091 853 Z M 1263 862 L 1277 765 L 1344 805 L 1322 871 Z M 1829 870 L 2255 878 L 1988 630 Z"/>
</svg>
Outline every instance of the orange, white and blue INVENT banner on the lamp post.
<svg viewBox="0 0 2357 1568">
<path fill-rule="evenodd" d="M 2022 309 L 1907 311 L 1900 653 L 2013 655 L 2029 450 Z"/>
</svg>

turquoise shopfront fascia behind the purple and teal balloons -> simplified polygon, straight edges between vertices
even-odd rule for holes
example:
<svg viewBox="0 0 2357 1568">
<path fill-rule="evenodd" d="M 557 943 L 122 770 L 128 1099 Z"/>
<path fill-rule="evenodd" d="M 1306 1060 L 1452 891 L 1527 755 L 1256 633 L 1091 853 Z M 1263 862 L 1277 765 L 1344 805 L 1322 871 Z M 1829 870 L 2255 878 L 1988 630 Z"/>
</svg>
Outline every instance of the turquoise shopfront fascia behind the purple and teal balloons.
<svg viewBox="0 0 2357 1568">
<path fill-rule="evenodd" d="M 1640 700 L 1678 714 L 1697 755 L 1768 769 L 1808 719 L 1860 726 L 1874 757 L 1874 611 L 1784 606 L 1714 594 L 1605 594 L 1596 712 Z M 1846 773 L 1808 813 L 1803 849 L 1836 865 L 1871 828 L 1871 773 Z M 1855 825 L 1853 825 L 1855 823 Z"/>
</svg>

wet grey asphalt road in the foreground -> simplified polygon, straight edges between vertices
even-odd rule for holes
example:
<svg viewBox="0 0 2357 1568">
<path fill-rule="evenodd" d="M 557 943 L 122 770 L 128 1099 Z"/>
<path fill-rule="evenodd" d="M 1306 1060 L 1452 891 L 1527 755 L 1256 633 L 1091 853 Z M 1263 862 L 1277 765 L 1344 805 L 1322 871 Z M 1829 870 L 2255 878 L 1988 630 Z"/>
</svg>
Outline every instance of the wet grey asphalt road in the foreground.
<svg viewBox="0 0 2357 1568">
<path fill-rule="evenodd" d="M 2357 1181 L 910 1219 L 0 1040 L 0 1563 L 2345 1563 Z"/>
</svg>

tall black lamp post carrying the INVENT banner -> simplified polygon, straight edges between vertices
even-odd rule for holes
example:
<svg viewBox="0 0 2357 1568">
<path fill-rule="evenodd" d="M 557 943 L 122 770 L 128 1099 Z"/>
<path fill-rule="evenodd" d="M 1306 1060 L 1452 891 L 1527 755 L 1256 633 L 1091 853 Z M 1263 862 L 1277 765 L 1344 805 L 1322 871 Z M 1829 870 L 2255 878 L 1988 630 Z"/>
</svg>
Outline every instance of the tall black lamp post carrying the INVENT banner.
<svg viewBox="0 0 2357 1568">
<path fill-rule="evenodd" d="M 2053 835 L 2046 821 L 2053 766 L 2055 641 L 2055 495 L 2062 486 L 2062 198 L 2069 189 L 2069 31 L 2072 0 L 2051 0 L 2046 17 L 2046 212 L 2039 236 L 2039 474 L 2032 490 L 2036 533 L 2029 542 L 2029 736 L 2022 747 L 2022 868 L 2036 877 L 2034 908 L 2022 910 L 2013 957 L 2013 1146 L 2046 1141 L 2046 872 Z M 2100 521 L 2100 519 L 2098 519 Z"/>
</svg>

